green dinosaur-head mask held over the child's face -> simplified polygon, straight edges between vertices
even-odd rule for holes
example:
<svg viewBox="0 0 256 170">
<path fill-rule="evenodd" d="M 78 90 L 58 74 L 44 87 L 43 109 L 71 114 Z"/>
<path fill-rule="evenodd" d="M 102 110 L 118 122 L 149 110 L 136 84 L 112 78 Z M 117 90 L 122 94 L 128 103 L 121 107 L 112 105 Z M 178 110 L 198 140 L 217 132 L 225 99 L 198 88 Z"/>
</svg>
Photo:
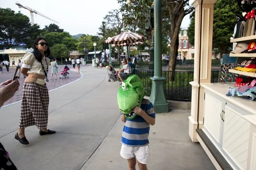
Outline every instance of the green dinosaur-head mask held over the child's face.
<svg viewBox="0 0 256 170">
<path fill-rule="evenodd" d="M 133 112 L 134 107 L 141 107 L 145 90 L 141 79 L 137 75 L 129 76 L 121 85 L 117 93 L 117 103 L 120 111 L 127 119 L 136 117 Z"/>
</svg>

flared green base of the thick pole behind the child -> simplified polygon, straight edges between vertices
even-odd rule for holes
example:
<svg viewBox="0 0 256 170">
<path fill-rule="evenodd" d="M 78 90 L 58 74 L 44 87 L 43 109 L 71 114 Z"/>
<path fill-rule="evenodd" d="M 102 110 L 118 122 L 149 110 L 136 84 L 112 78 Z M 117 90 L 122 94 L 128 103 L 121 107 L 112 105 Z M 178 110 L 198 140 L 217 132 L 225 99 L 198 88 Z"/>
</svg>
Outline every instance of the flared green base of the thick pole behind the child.
<svg viewBox="0 0 256 170">
<path fill-rule="evenodd" d="M 163 82 L 165 77 L 150 77 L 152 80 L 152 91 L 149 100 L 154 106 L 155 113 L 169 112 L 169 106 L 165 99 Z"/>
</svg>

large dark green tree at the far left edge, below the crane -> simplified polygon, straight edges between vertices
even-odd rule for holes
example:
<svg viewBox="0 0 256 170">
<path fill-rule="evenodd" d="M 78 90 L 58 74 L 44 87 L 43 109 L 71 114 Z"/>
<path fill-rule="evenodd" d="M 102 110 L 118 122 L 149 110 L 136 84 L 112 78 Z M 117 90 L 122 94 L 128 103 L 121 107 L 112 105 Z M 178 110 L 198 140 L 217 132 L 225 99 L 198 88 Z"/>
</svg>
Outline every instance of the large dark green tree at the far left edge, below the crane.
<svg viewBox="0 0 256 170">
<path fill-rule="evenodd" d="M 39 33 L 39 26 L 32 26 L 29 18 L 10 8 L 0 8 L 0 45 L 1 48 L 28 45 Z"/>
</svg>

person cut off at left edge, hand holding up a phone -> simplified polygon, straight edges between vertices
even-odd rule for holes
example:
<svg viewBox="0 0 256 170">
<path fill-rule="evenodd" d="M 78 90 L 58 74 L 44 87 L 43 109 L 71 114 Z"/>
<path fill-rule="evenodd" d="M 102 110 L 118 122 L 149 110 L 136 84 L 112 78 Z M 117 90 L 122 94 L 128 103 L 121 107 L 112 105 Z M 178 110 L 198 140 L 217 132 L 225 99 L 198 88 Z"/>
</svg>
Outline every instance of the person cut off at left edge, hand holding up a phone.
<svg viewBox="0 0 256 170">
<path fill-rule="evenodd" d="M 7 80 L 0 84 L 0 107 L 8 101 L 18 91 L 20 83 L 17 79 Z M 8 152 L 0 142 L 0 170 L 17 170 L 16 166 L 10 159 Z"/>
</svg>

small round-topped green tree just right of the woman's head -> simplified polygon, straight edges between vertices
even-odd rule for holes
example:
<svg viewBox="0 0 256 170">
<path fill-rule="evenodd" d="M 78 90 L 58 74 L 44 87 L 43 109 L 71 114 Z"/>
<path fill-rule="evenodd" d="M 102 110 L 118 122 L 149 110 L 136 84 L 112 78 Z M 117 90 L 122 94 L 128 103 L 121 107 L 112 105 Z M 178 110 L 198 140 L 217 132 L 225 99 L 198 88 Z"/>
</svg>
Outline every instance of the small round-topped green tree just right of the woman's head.
<svg viewBox="0 0 256 170">
<path fill-rule="evenodd" d="M 61 58 L 61 63 L 63 63 L 63 58 L 69 57 L 69 49 L 64 44 L 55 44 L 51 48 L 53 57 Z"/>
</svg>

